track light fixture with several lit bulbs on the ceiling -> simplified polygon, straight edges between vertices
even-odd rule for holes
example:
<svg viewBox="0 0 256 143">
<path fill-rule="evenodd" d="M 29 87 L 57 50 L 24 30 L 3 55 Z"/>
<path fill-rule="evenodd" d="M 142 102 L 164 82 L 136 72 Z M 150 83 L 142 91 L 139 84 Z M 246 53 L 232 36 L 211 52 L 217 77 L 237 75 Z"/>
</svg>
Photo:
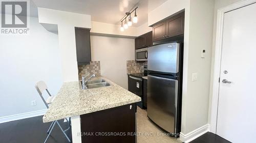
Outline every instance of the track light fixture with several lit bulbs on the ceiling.
<svg viewBox="0 0 256 143">
<path fill-rule="evenodd" d="M 127 29 L 128 26 L 132 26 L 133 23 L 137 23 L 138 22 L 138 16 L 137 16 L 137 13 L 136 13 L 136 9 L 138 7 L 136 7 L 133 11 L 131 12 L 126 12 L 124 16 L 124 18 L 121 20 L 121 27 L 120 27 L 120 31 L 124 31 L 124 29 Z M 135 14 L 134 14 L 134 17 L 133 17 L 133 20 L 132 20 L 132 16 L 131 14 L 135 11 Z M 126 18 L 128 17 L 128 21 L 126 20 Z M 123 21 L 124 21 L 124 24 L 123 24 Z"/>
</svg>

